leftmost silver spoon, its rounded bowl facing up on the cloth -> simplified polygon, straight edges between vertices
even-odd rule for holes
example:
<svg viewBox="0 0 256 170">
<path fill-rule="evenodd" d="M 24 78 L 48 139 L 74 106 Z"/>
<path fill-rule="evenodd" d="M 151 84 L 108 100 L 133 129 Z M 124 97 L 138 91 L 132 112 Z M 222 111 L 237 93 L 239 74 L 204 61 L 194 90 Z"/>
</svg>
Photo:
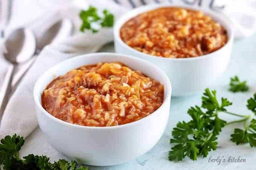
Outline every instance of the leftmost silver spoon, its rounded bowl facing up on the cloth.
<svg viewBox="0 0 256 170">
<path fill-rule="evenodd" d="M 3 109 L 7 92 L 10 90 L 15 67 L 18 63 L 25 62 L 35 53 L 36 41 L 30 29 L 16 29 L 3 43 L 3 56 L 10 63 L 0 91 L 0 108 Z"/>
</svg>

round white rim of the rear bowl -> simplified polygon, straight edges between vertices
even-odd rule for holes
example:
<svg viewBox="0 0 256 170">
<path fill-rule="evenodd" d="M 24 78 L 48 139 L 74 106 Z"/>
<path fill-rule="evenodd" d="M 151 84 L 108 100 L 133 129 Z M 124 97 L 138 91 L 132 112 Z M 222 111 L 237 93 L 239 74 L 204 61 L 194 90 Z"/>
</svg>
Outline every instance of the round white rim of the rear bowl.
<svg viewBox="0 0 256 170">
<path fill-rule="evenodd" d="M 120 38 L 120 29 L 124 23 L 126 23 L 131 18 L 134 18 L 137 15 L 140 15 L 144 12 L 162 8 L 162 7 L 180 7 L 180 8 L 185 8 L 185 9 L 192 9 L 195 11 L 202 11 L 202 12 L 206 13 L 207 15 L 209 15 L 210 17 L 218 18 L 218 20 L 220 20 L 222 23 L 224 23 L 226 25 L 226 26 L 223 26 L 223 24 L 221 24 L 227 30 L 227 36 L 228 36 L 227 43 L 224 46 L 222 46 L 221 48 L 219 48 L 218 50 L 213 51 L 212 53 L 209 53 L 209 54 L 204 54 L 202 56 L 195 56 L 195 57 L 188 57 L 188 58 L 167 58 L 167 57 L 158 57 L 158 56 L 154 56 L 151 54 L 142 53 L 138 50 L 135 50 L 134 48 L 130 47 L 129 45 L 125 44 L 125 42 L 122 41 L 122 39 Z M 122 45 L 123 47 L 127 48 L 128 50 L 132 51 L 133 53 L 135 53 L 137 55 L 144 56 L 144 57 L 151 57 L 151 58 L 156 57 L 159 60 L 172 60 L 172 61 L 180 61 L 180 62 L 187 61 L 187 60 L 200 60 L 200 59 L 205 59 L 205 58 L 214 56 L 211 54 L 218 53 L 223 48 L 227 47 L 227 45 L 231 44 L 234 39 L 234 30 L 232 28 L 232 23 L 229 20 L 229 18 L 227 18 L 225 15 L 217 14 L 217 13 L 213 12 L 212 10 L 205 8 L 203 6 L 198 7 L 198 6 L 189 6 L 189 5 L 185 5 L 185 4 L 184 5 L 181 5 L 181 4 L 175 5 L 175 4 L 170 4 L 170 3 L 145 5 L 145 6 L 141 6 L 139 8 L 135 8 L 135 9 L 123 14 L 115 23 L 114 29 L 113 29 L 113 34 L 114 34 L 114 42 L 115 43 L 116 43 L 116 41 L 118 41 L 118 43 L 120 45 Z"/>
</svg>

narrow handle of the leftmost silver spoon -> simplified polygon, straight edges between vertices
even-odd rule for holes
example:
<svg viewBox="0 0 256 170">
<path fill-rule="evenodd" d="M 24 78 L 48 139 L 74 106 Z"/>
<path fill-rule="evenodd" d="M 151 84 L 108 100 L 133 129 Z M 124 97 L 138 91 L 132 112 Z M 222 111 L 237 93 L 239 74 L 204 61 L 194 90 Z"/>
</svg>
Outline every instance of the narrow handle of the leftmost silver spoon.
<svg viewBox="0 0 256 170">
<path fill-rule="evenodd" d="M 8 66 L 8 69 L 6 71 L 6 75 L 5 75 L 5 78 L 3 80 L 2 88 L 1 88 L 1 91 L 0 91 L 0 110 L 1 110 L 1 113 L 3 113 L 4 107 L 7 104 L 6 99 L 8 97 L 7 94 L 10 90 L 10 87 L 11 87 L 13 74 L 14 74 L 14 65 L 10 65 L 10 66 Z"/>
</svg>

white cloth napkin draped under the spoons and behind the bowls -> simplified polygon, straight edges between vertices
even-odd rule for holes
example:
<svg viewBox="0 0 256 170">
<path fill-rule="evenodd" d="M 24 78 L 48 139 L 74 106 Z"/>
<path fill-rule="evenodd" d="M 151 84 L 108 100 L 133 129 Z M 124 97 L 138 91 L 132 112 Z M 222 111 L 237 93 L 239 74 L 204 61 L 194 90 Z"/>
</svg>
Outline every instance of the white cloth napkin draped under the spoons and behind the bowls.
<svg viewBox="0 0 256 170">
<path fill-rule="evenodd" d="M 96 34 L 93 34 L 90 31 L 87 31 L 85 33 L 79 32 L 79 26 L 81 24 L 81 21 L 78 18 L 78 14 L 81 9 L 88 8 L 89 4 L 96 6 L 99 9 L 99 11 L 107 8 L 115 15 L 116 19 L 118 19 L 124 12 L 128 11 L 133 6 L 143 5 L 143 3 L 145 2 L 155 3 L 160 1 L 161 0 L 134 0 L 133 5 L 131 5 L 130 0 L 87 0 L 86 2 L 84 0 L 74 0 L 71 3 L 66 1 L 65 5 L 55 5 L 51 9 L 46 10 L 42 17 L 39 17 L 36 20 L 33 20 L 32 22 L 28 22 L 27 24 L 25 24 L 25 26 L 33 29 L 36 35 L 40 35 L 40 33 L 42 33 L 44 29 L 46 29 L 45 26 L 50 26 L 50 24 L 54 23 L 56 20 L 60 18 L 70 18 L 72 19 L 75 25 L 75 34 L 72 37 L 67 38 L 65 41 L 47 46 L 37 57 L 36 62 L 34 63 L 32 68 L 30 68 L 30 70 L 27 72 L 22 82 L 20 83 L 20 85 L 12 95 L 11 99 L 9 100 L 5 112 L 3 113 L 2 119 L 0 118 L 0 138 L 3 138 L 5 135 L 12 135 L 14 133 L 27 137 L 27 135 L 29 135 L 37 127 L 38 123 L 34 108 L 33 87 L 37 78 L 46 69 L 52 67 L 56 63 L 59 63 L 62 60 L 65 60 L 69 57 L 76 56 L 78 54 L 96 52 L 97 50 L 99 50 L 99 48 L 102 47 L 102 45 L 113 41 L 112 29 L 102 29 Z M 183 0 L 168 2 L 179 4 L 194 1 Z M 211 0 L 204 0 L 202 2 L 202 5 L 209 6 Z M 226 1 L 225 4 L 223 4 L 222 2 L 224 1 L 216 0 L 214 5 L 226 5 Z M 244 1 L 237 0 L 236 2 L 240 2 L 241 4 L 241 2 Z M 123 7 L 120 4 L 125 5 L 126 7 Z M 232 6 L 235 6 L 233 5 L 234 3 L 232 2 L 230 2 L 230 4 L 232 4 Z M 198 4 L 194 3 L 194 5 Z M 244 5 L 253 8 L 249 3 L 243 3 L 243 6 Z M 130 7 L 127 8 L 127 6 Z M 227 5 L 227 7 L 225 7 L 224 9 L 215 10 L 218 10 L 218 12 L 221 11 L 225 14 L 232 14 L 229 17 L 230 20 L 233 20 L 232 18 L 238 18 L 235 17 L 235 15 L 233 15 L 234 13 L 241 18 L 246 16 L 243 13 L 245 12 L 244 9 L 239 8 L 240 10 L 233 10 L 238 8 L 232 8 L 232 6 Z M 254 7 L 256 8 L 256 5 L 254 5 Z M 256 17 L 250 17 L 251 18 L 245 17 L 246 19 L 248 19 L 246 22 L 245 20 L 242 20 L 242 22 L 245 22 L 245 24 L 241 24 L 242 22 L 238 22 L 238 20 L 235 20 L 236 25 L 238 25 L 238 32 L 236 34 L 237 36 L 251 35 L 251 33 L 255 30 Z M 248 23 L 251 24 L 250 28 L 247 27 Z M 3 62 L 2 59 L 0 59 L 0 67 L 5 64 L 6 63 Z M 3 78 L 3 72 L 4 71 L 0 69 L 0 78 Z"/>
</svg>

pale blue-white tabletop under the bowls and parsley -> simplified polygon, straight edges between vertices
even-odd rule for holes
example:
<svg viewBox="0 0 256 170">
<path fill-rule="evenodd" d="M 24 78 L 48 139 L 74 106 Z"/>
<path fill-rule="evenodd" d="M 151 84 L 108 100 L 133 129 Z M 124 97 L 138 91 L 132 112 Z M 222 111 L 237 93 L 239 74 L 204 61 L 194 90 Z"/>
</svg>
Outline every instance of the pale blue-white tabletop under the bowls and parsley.
<svg viewBox="0 0 256 170">
<path fill-rule="evenodd" d="M 102 48 L 102 52 L 113 52 L 113 44 L 109 44 Z M 217 91 L 219 98 L 226 97 L 233 102 L 229 107 L 229 111 L 240 114 L 249 114 L 246 108 L 246 101 L 254 92 L 256 92 L 256 35 L 245 39 L 237 39 L 233 45 L 232 58 L 229 67 L 224 75 L 219 78 L 215 86 L 210 89 Z M 238 75 L 242 80 L 247 80 L 250 90 L 245 93 L 231 93 L 228 91 L 230 77 Z M 209 77 L 210 78 L 210 77 Z M 147 153 L 139 156 L 130 162 L 122 165 L 111 167 L 90 167 L 91 170 L 255 170 L 256 169 L 256 148 L 251 148 L 248 144 L 236 146 L 230 139 L 230 134 L 235 127 L 242 125 L 231 125 L 223 129 L 218 139 L 218 148 L 209 153 L 207 158 L 199 158 L 197 161 L 192 161 L 188 158 L 181 162 L 170 162 L 168 160 L 168 151 L 173 146 L 169 143 L 171 138 L 171 130 L 179 120 L 189 120 L 186 114 L 190 106 L 201 104 L 201 94 L 171 99 L 171 112 L 166 130 L 158 143 Z M 237 119 L 224 113 L 220 115 L 223 119 L 231 121 Z M 60 141 L 65 142 L 65 141 Z M 47 143 L 47 139 L 43 132 L 37 128 L 26 139 L 26 143 L 21 150 L 21 156 L 29 153 L 39 155 L 49 155 L 51 161 L 65 158 L 64 155 L 58 153 Z M 246 162 L 221 162 L 220 165 L 216 162 L 209 162 L 209 157 L 228 158 L 229 156 L 240 159 L 246 159 Z"/>
</svg>

